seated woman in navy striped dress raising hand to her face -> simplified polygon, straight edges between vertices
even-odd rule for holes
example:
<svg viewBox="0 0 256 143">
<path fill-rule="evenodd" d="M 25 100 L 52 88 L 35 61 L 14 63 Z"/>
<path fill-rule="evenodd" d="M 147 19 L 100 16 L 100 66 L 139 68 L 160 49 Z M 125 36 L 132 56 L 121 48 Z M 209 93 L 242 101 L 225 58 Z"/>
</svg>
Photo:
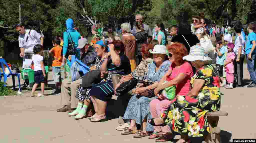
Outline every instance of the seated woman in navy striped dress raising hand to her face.
<svg viewBox="0 0 256 143">
<path fill-rule="evenodd" d="M 100 83 L 95 84 L 89 94 L 95 109 L 95 115 L 92 116 L 91 122 L 106 121 L 105 110 L 107 102 L 111 99 L 114 89 L 112 82 L 112 74 L 127 75 L 131 73 L 129 59 L 124 55 L 124 44 L 120 40 L 113 41 L 108 45 L 109 53 L 103 59 L 100 71 L 107 74 Z M 96 52 L 98 50 L 96 49 Z"/>
</svg>

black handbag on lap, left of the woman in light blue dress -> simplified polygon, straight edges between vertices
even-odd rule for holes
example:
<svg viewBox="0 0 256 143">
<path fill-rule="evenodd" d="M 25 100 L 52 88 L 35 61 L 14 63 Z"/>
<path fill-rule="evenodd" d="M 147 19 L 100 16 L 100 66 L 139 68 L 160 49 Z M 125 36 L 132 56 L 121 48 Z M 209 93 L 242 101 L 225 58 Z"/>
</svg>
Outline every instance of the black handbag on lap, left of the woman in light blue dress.
<svg viewBox="0 0 256 143">
<path fill-rule="evenodd" d="M 138 83 L 138 80 L 136 78 L 130 79 L 128 81 L 123 82 L 116 90 L 115 90 L 115 95 L 120 96 L 124 95 L 125 93 L 129 92 L 133 88 L 136 87 Z"/>
</svg>

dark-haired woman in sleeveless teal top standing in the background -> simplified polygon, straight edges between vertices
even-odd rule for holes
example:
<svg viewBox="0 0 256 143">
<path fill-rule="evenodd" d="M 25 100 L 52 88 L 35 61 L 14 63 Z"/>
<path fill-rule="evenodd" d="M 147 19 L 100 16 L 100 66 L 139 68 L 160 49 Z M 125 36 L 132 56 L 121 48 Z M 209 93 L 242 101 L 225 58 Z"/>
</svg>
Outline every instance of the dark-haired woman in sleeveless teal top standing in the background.
<svg viewBox="0 0 256 143">
<path fill-rule="evenodd" d="M 158 40 L 159 45 L 165 45 L 165 35 L 164 35 L 164 24 L 162 22 L 156 22 L 155 24 L 155 31 L 157 32 L 157 35 L 155 37 L 156 40 Z"/>
</svg>

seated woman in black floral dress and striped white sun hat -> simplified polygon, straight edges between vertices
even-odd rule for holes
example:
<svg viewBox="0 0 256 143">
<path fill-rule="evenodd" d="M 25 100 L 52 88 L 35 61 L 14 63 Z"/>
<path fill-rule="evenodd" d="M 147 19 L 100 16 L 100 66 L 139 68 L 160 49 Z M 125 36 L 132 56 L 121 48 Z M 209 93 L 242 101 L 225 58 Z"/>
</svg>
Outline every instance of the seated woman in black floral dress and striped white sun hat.
<svg viewBox="0 0 256 143">
<path fill-rule="evenodd" d="M 190 83 L 192 90 L 186 96 L 177 96 L 162 118 L 148 120 L 152 125 L 168 124 L 173 132 L 181 134 L 177 143 L 190 142 L 189 137 L 204 137 L 209 133 L 206 113 L 220 109 L 221 93 L 216 69 L 209 64 L 204 48 L 193 46 L 183 58 L 196 67 Z"/>
</svg>

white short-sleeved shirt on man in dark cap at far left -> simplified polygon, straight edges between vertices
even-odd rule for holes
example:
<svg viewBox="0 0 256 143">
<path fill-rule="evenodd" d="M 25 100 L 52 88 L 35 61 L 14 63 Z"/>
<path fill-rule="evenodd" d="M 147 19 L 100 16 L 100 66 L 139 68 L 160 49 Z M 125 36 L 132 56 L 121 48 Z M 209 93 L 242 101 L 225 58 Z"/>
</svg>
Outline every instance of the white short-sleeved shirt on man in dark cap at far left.
<svg viewBox="0 0 256 143">
<path fill-rule="evenodd" d="M 19 47 L 24 48 L 24 52 L 33 52 L 34 46 L 40 44 L 40 38 L 41 35 L 37 33 L 35 30 L 26 29 L 25 34 L 19 35 Z"/>
</svg>

